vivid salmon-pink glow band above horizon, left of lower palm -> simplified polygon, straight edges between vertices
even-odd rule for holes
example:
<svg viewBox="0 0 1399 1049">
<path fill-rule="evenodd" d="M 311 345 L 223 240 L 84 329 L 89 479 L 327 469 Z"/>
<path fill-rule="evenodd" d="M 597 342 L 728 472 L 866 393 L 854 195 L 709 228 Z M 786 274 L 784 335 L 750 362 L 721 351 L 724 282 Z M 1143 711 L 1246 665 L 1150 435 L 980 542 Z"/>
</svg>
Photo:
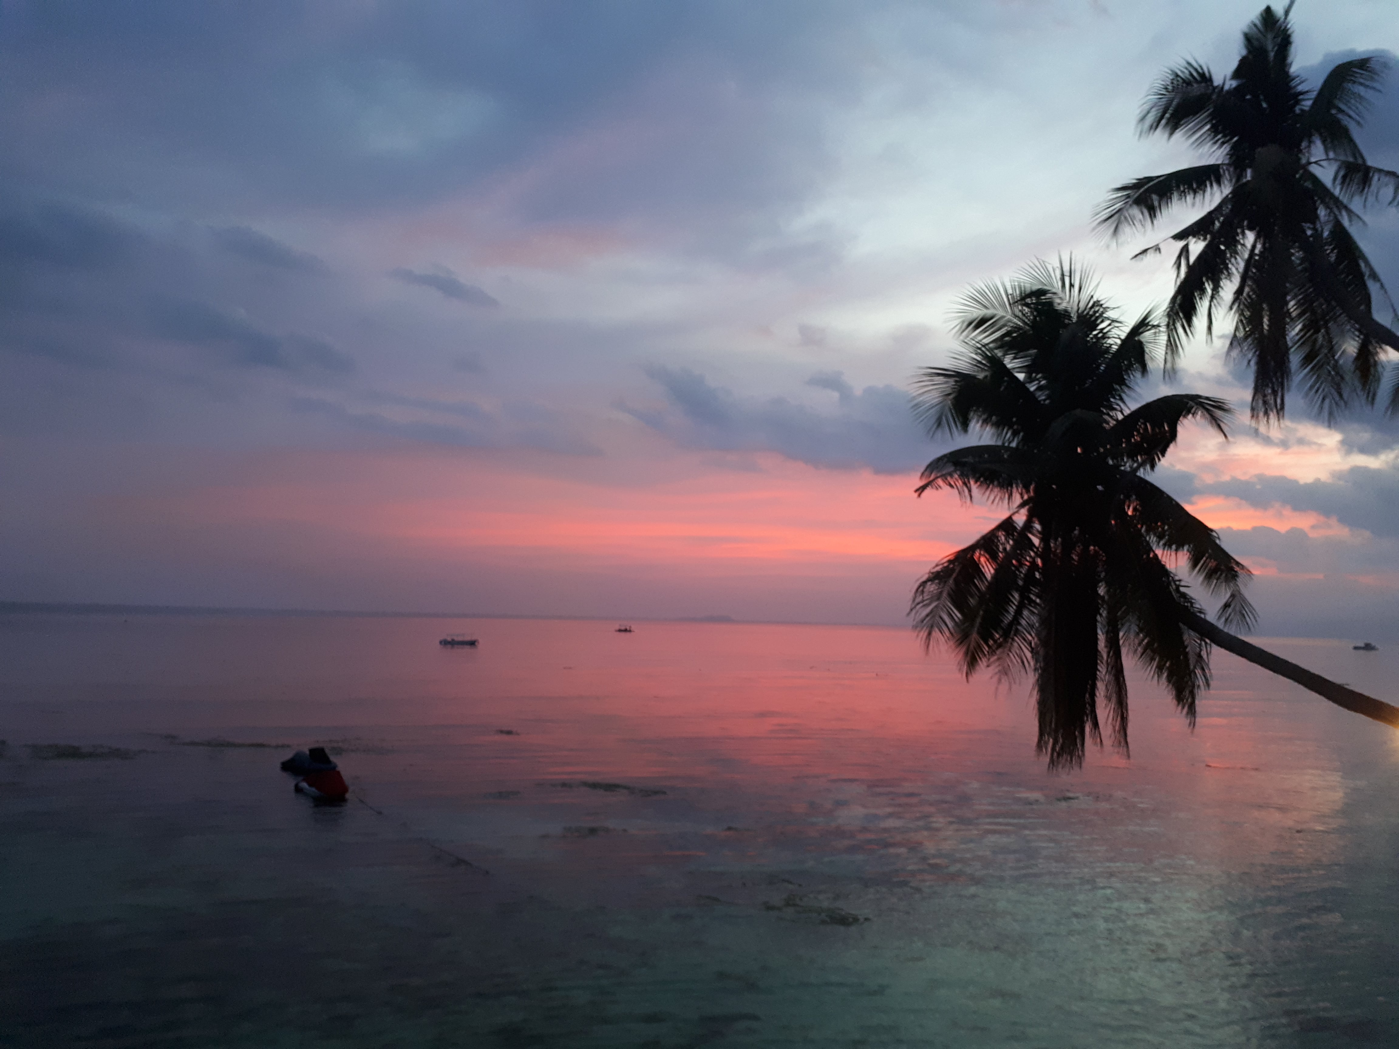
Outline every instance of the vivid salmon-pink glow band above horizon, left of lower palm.
<svg viewBox="0 0 1399 1049">
<path fill-rule="evenodd" d="M 519 457 L 481 456 L 450 467 L 456 484 L 371 502 L 355 520 L 435 555 L 658 562 L 688 573 L 723 561 L 760 561 L 765 572 L 832 561 L 926 564 L 958 533 L 970 538 L 982 516 L 956 499 L 915 499 L 905 477 L 823 471 L 775 455 L 754 456 L 755 469 L 741 471 L 704 459 L 681 456 L 674 480 L 618 488 L 585 476 L 541 485 L 520 471 Z"/>
</svg>

